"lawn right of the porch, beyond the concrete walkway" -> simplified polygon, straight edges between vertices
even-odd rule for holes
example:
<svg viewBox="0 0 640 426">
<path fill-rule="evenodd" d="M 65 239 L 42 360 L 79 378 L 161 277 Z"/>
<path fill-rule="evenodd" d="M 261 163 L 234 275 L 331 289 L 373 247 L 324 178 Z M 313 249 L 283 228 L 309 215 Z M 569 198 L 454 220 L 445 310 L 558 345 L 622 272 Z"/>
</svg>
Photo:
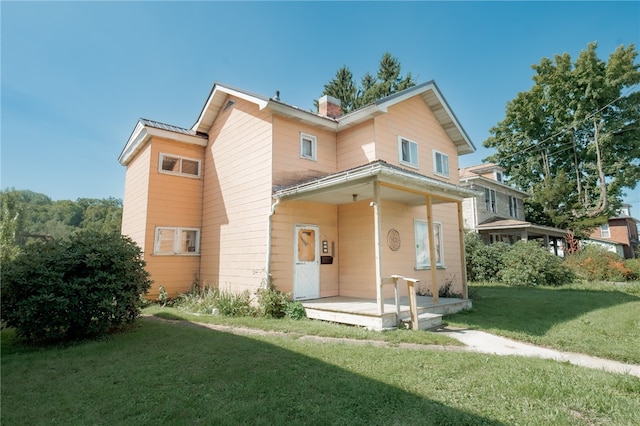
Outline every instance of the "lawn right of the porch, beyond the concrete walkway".
<svg viewBox="0 0 640 426">
<path fill-rule="evenodd" d="M 448 324 L 640 364 L 638 282 L 526 288 L 474 284 L 470 293 L 471 312 L 448 316 Z"/>
</svg>

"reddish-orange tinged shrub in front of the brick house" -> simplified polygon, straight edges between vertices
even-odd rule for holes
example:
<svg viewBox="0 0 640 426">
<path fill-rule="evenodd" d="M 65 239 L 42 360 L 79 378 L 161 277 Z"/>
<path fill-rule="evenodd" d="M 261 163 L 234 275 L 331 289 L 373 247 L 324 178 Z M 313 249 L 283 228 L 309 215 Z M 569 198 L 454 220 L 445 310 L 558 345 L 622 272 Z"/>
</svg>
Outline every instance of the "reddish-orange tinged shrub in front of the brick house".
<svg viewBox="0 0 640 426">
<path fill-rule="evenodd" d="M 620 256 L 595 244 L 568 256 L 565 263 L 576 275 L 589 281 L 625 281 L 633 275 Z"/>
</svg>

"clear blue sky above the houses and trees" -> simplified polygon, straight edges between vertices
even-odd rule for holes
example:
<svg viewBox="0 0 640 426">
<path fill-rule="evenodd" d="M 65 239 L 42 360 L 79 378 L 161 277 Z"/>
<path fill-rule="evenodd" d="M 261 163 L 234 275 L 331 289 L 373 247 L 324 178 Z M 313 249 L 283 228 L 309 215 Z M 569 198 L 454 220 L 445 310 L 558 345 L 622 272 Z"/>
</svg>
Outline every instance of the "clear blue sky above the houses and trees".
<svg viewBox="0 0 640 426">
<path fill-rule="evenodd" d="M 313 107 L 385 52 L 435 80 L 478 148 L 532 64 L 640 48 L 639 2 L 0 2 L 1 187 L 122 198 L 138 118 L 191 127 L 214 82 Z M 626 198 L 640 217 L 640 188 Z"/>
</svg>

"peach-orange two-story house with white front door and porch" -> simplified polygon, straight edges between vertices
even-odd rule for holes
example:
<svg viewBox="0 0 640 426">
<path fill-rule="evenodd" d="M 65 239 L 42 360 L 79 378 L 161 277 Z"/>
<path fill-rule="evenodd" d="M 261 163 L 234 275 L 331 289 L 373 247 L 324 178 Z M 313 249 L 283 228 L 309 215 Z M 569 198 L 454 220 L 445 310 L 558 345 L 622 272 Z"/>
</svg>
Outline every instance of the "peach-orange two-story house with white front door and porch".
<svg viewBox="0 0 640 426">
<path fill-rule="evenodd" d="M 458 156 L 475 147 L 434 82 L 349 114 L 214 84 L 189 128 L 141 119 L 122 232 L 171 296 L 200 286 L 370 298 L 392 275 L 466 299 Z M 406 294 L 406 289 L 404 290 Z M 436 299 L 437 301 L 437 299 Z"/>
</svg>

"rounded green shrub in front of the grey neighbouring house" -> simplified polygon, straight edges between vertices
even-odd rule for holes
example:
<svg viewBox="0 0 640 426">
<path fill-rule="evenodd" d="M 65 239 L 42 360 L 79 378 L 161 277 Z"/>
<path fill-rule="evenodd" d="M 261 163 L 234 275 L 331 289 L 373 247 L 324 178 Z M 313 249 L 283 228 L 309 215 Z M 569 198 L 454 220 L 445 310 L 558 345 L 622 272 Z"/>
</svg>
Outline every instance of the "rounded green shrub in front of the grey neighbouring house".
<svg viewBox="0 0 640 426">
<path fill-rule="evenodd" d="M 511 286 L 560 286 L 574 276 L 562 260 L 536 241 L 518 241 L 502 256 L 500 279 Z"/>
</svg>

